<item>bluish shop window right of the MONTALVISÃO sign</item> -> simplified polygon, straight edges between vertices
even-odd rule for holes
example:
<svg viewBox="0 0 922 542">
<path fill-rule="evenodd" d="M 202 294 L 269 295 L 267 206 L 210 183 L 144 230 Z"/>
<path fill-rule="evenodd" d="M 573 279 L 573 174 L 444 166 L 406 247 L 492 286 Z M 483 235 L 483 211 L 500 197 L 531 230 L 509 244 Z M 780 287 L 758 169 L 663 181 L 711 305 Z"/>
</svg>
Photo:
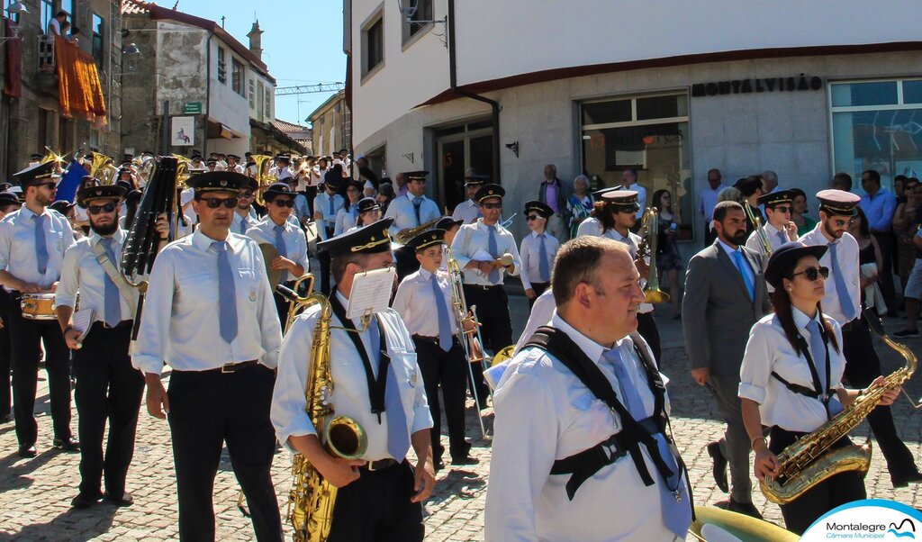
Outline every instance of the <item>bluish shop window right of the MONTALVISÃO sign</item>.
<svg viewBox="0 0 922 542">
<path fill-rule="evenodd" d="M 854 179 L 877 170 L 881 184 L 922 174 L 922 79 L 855 81 L 829 87 L 833 170 Z M 860 190 L 861 183 L 855 183 Z"/>
</svg>

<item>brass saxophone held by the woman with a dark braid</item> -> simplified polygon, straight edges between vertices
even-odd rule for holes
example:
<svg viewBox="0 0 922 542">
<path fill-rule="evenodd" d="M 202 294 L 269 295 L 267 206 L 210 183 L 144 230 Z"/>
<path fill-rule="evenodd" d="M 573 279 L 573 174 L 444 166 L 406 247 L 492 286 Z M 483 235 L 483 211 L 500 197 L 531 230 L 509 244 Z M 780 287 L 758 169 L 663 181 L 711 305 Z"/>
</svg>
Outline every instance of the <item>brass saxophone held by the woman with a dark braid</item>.
<svg viewBox="0 0 922 542">
<path fill-rule="evenodd" d="M 868 417 L 880 403 L 884 392 L 909 380 L 916 372 L 918 360 L 912 350 L 883 333 L 881 320 L 877 316 L 866 312 L 865 321 L 888 347 L 903 356 L 904 367 L 887 375 L 881 385 L 870 387 L 858 395 L 851 405 L 818 430 L 782 450 L 778 454 L 778 464 L 781 465 L 778 474 L 774 478 L 765 477 L 760 482 L 765 499 L 776 504 L 786 504 L 828 477 L 849 470 L 857 470 L 862 476 L 868 474 L 870 441 L 864 445 L 852 444 L 835 450 L 829 448 Z"/>
</svg>

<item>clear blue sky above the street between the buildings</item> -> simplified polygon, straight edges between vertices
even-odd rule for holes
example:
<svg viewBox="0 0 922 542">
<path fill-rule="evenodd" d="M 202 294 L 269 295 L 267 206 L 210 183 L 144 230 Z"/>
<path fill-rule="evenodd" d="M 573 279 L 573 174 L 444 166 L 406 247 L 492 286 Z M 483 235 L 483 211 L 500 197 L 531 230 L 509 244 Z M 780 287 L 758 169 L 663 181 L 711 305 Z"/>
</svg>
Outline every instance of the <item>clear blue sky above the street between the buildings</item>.
<svg viewBox="0 0 922 542">
<path fill-rule="evenodd" d="M 167 8 L 174 2 L 157 0 Z M 177 9 L 219 24 L 225 17 L 224 29 L 244 45 L 249 45 L 246 34 L 258 18 L 265 32 L 263 61 L 278 87 L 346 81 L 341 0 L 180 0 Z M 330 94 L 279 96 L 276 118 L 303 124 Z"/>
</svg>

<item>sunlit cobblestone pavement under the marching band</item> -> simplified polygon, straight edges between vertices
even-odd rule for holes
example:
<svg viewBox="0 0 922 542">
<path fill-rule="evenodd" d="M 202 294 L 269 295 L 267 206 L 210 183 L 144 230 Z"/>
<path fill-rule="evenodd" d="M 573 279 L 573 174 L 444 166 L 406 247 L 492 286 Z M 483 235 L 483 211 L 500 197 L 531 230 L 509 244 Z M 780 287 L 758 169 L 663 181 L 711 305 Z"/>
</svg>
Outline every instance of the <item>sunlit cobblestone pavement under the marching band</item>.
<svg viewBox="0 0 922 542">
<path fill-rule="evenodd" d="M 516 330 L 525 323 L 527 305 L 524 298 L 512 297 Z M 668 310 L 667 310 L 668 312 Z M 711 460 L 705 446 L 719 437 L 722 423 L 715 417 L 715 407 L 708 393 L 697 386 L 687 370 L 681 348 L 681 330 L 668 317 L 658 319 L 664 330 L 667 347 L 662 360 L 663 371 L 672 379 L 673 430 L 689 466 L 694 487 L 694 499 L 699 504 L 713 504 L 727 498 L 716 489 L 711 475 Z M 895 328 L 891 329 L 893 331 Z M 918 351 L 922 341 L 909 339 L 908 346 Z M 880 346 L 885 370 L 902 365 L 891 350 Z M 115 508 L 100 504 L 84 511 L 70 510 L 70 500 L 78 483 L 78 454 L 59 454 L 51 449 L 51 418 L 47 412 L 47 386 L 40 372 L 40 399 L 36 406 L 39 420 L 38 457 L 26 460 L 16 454 L 16 436 L 12 424 L 0 426 L 0 540 L 168 540 L 177 538 L 177 506 L 170 445 L 170 431 L 165 421 L 151 418 L 142 410 L 137 430 L 135 461 L 129 471 L 128 491 L 135 497 L 130 508 Z M 922 384 L 910 383 L 910 395 L 922 395 Z M 894 407 L 897 428 L 910 449 L 922 455 L 922 422 L 915 411 L 901 399 Z M 491 410 L 485 411 L 488 432 L 492 425 Z M 77 416 L 75 409 L 74 428 Z M 443 424 L 444 427 L 444 424 Z M 489 441 L 480 438 L 479 426 L 472 407 L 467 412 L 467 434 L 474 442 L 472 454 L 479 465 L 452 468 L 449 465 L 438 474 L 438 483 L 426 505 L 427 540 L 482 540 L 483 508 L 490 470 Z M 868 435 L 866 424 L 853 434 L 856 441 Z M 443 439 L 447 440 L 443 436 Z M 447 447 L 447 442 L 445 442 Z M 273 477 L 284 513 L 290 486 L 288 454 L 279 452 L 273 465 Z M 869 496 L 892 499 L 922 506 L 917 487 L 892 489 L 879 450 L 875 450 L 867 479 Z M 237 483 L 225 453 L 215 480 L 214 508 L 217 536 L 220 540 L 251 540 L 254 538 L 249 519 L 237 509 Z M 780 523 L 777 506 L 766 503 L 755 491 L 756 506 L 767 519 Z M 289 532 L 287 530 L 287 532 Z"/>
</svg>

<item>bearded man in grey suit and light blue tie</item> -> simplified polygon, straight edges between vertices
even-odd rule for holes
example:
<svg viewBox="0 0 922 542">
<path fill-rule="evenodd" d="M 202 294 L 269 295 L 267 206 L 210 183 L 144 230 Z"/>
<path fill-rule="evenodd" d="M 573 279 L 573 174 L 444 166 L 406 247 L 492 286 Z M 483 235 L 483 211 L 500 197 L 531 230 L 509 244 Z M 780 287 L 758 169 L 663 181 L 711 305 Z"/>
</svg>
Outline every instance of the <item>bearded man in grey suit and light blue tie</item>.
<svg viewBox="0 0 922 542">
<path fill-rule="evenodd" d="M 691 361 L 691 376 L 706 385 L 717 400 L 727 431 L 708 445 L 714 457 L 717 486 L 727 491 L 727 462 L 732 489 L 730 500 L 718 503 L 732 512 L 762 517 L 752 505 L 750 441 L 739 407 L 739 364 L 752 324 L 771 310 L 762 277 L 762 255 L 746 243 L 746 215 L 736 202 L 714 208 L 717 239 L 691 258 L 685 275 L 682 329 Z"/>
</svg>

